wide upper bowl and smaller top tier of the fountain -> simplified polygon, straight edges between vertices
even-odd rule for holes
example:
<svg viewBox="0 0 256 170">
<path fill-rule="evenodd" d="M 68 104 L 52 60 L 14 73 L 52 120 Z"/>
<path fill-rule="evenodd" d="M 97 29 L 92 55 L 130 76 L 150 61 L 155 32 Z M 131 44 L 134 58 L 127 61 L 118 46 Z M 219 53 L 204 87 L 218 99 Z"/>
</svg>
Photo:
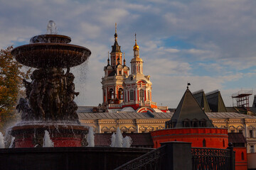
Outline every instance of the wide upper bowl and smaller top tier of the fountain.
<svg viewBox="0 0 256 170">
<path fill-rule="evenodd" d="M 37 35 L 31 44 L 21 45 L 11 51 L 16 60 L 28 67 L 75 67 L 91 55 L 86 47 L 70 45 L 71 38 L 65 35 Z"/>
</svg>

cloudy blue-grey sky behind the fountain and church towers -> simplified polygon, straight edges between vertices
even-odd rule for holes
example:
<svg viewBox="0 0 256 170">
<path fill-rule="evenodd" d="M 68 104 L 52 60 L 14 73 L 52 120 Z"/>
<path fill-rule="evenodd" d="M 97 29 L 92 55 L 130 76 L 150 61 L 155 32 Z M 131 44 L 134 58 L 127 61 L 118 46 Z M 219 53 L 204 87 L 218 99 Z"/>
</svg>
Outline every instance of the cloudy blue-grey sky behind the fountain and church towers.
<svg viewBox="0 0 256 170">
<path fill-rule="evenodd" d="M 226 106 L 232 106 L 230 96 L 241 89 L 256 92 L 256 1 L 0 0 L 0 4 L 1 48 L 28 44 L 33 35 L 46 33 L 53 20 L 58 34 L 92 51 L 88 62 L 72 69 L 80 91 L 78 106 L 102 103 L 100 81 L 114 44 L 114 23 L 127 63 L 137 33 L 144 74 L 151 75 L 152 99 L 159 106 L 176 108 L 187 82 L 192 92 L 219 89 Z"/>
</svg>

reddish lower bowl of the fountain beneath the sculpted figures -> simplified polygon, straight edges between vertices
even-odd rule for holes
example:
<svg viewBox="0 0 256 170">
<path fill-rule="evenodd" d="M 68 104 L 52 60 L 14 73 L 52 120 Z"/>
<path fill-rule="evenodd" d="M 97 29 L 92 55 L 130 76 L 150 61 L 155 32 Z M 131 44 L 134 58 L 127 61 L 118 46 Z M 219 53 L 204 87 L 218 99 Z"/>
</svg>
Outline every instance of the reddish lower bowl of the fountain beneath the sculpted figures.
<svg viewBox="0 0 256 170">
<path fill-rule="evenodd" d="M 15 148 L 43 147 L 45 130 L 50 134 L 54 147 L 85 147 L 88 127 L 76 124 L 25 124 L 15 125 L 10 129 L 10 135 L 15 137 Z"/>
</svg>

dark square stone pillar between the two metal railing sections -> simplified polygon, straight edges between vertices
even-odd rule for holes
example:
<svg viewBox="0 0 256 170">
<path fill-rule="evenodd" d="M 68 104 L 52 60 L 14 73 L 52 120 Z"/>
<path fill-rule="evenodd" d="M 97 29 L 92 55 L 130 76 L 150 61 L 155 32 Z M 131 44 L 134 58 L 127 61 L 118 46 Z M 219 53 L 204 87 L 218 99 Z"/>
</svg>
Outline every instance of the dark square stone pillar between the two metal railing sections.
<svg viewBox="0 0 256 170">
<path fill-rule="evenodd" d="M 162 166 L 169 170 L 191 170 L 192 155 L 190 142 L 163 142 L 166 145 L 166 157 Z"/>
</svg>

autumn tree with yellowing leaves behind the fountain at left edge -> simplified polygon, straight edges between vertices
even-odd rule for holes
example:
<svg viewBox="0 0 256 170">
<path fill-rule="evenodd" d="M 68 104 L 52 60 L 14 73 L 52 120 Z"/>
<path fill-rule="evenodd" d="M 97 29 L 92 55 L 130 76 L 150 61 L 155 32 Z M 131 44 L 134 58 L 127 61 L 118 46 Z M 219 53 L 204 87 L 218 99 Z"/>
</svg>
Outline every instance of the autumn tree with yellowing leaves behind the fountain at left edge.
<svg viewBox="0 0 256 170">
<path fill-rule="evenodd" d="M 21 70 L 22 65 L 11 55 L 13 47 L 0 51 L 0 130 L 15 117 L 18 94 L 22 79 L 28 79 L 30 69 Z"/>
</svg>

